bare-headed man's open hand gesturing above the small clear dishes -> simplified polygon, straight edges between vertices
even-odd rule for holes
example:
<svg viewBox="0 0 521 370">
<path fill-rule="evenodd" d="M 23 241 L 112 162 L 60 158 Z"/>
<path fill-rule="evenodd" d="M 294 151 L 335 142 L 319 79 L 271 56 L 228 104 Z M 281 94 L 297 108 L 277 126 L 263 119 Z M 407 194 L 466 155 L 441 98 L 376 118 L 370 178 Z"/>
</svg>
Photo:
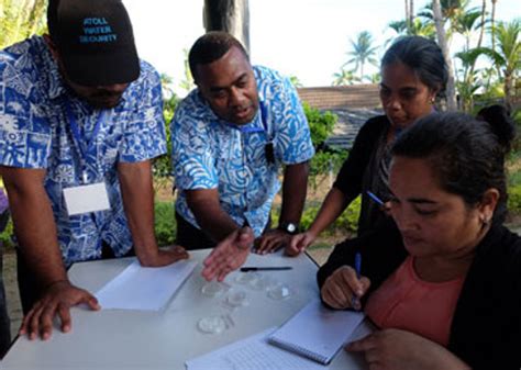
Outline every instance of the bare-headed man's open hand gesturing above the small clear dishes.
<svg viewBox="0 0 521 370">
<path fill-rule="evenodd" d="M 202 277 L 208 281 L 215 278 L 223 281 L 226 274 L 244 264 L 254 239 L 252 228 L 246 226 L 235 229 L 204 259 Z"/>
</svg>

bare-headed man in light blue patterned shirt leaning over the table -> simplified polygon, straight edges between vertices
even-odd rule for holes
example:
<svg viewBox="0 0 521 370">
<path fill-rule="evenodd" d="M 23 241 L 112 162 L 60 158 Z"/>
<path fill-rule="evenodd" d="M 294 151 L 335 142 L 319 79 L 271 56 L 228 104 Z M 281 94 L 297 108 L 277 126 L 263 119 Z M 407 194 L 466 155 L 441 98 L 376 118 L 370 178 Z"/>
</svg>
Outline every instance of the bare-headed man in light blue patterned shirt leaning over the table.
<svg viewBox="0 0 521 370">
<path fill-rule="evenodd" d="M 224 32 L 201 36 L 189 64 L 197 89 L 171 122 L 177 243 L 214 247 L 248 225 L 255 249 L 273 251 L 297 232 L 314 154 L 297 91 L 276 71 L 253 67 Z M 282 165 L 280 222 L 269 229 Z"/>
</svg>

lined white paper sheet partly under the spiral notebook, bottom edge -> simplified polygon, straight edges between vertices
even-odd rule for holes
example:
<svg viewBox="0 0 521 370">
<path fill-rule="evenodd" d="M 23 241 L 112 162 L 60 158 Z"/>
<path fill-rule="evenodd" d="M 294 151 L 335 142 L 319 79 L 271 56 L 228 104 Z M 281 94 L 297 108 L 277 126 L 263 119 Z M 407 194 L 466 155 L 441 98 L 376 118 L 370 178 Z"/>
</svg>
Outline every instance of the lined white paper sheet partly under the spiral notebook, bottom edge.
<svg viewBox="0 0 521 370">
<path fill-rule="evenodd" d="M 324 370 L 298 355 L 271 346 L 266 338 L 275 327 L 186 361 L 187 370 Z"/>
</svg>

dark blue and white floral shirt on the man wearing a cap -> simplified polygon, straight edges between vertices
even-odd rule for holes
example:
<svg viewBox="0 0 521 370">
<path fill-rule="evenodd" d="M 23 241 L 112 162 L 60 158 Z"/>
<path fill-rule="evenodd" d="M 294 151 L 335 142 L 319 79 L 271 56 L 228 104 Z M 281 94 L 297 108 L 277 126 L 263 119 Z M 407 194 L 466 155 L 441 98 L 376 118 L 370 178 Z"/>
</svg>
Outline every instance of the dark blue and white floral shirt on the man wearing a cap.
<svg viewBox="0 0 521 370">
<path fill-rule="evenodd" d="M 157 72 L 142 61 L 118 106 L 97 110 L 68 90 L 44 40 L 34 36 L 0 52 L 0 165 L 46 169 L 65 264 L 99 258 L 103 240 L 115 256 L 128 253 L 117 165 L 166 153 Z M 110 210 L 69 216 L 63 190 L 97 182 L 106 183 Z"/>
</svg>

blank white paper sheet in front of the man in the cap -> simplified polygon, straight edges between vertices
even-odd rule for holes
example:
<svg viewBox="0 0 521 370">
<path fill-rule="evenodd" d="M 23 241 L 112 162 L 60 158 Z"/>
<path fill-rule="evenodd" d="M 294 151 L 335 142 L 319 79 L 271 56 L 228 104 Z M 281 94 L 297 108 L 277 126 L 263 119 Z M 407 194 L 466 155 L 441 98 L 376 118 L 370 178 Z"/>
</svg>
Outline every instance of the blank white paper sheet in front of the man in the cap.
<svg viewBox="0 0 521 370">
<path fill-rule="evenodd" d="M 196 267 L 177 261 L 165 267 L 141 267 L 135 260 L 97 293 L 101 309 L 160 310 Z"/>
</svg>

